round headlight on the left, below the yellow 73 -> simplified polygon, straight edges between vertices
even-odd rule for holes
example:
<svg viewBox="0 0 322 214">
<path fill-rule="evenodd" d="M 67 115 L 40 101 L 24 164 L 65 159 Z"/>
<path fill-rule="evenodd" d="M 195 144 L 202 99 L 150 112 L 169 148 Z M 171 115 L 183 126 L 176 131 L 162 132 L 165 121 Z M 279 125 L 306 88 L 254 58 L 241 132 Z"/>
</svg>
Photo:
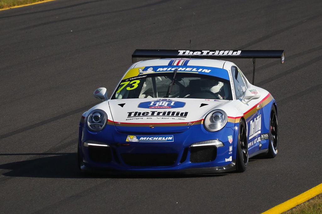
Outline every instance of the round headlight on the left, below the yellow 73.
<svg viewBox="0 0 322 214">
<path fill-rule="evenodd" d="M 104 128 L 106 121 L 106 113 L 100 109 L 95 109 L 87 117 L 87 127 L 90 131 L 98 132 Z"/>
</svg>

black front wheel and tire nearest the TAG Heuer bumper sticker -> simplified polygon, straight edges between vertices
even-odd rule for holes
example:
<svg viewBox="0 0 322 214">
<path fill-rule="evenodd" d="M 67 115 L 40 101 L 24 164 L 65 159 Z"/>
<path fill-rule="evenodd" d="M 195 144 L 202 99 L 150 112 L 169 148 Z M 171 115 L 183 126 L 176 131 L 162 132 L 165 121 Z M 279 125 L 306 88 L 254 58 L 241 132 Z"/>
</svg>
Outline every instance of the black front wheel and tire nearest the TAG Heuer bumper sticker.
<svg viewBox="0 0 322 214">
<path fill-rule="evenodd" d="M 236 154 L 237 172 L 246 171 L 248 165 L 248 145 L 247 145 L 247 130 L 245 122 L 241 119 L 239 122 L 237 154 Z"/>
</svg>

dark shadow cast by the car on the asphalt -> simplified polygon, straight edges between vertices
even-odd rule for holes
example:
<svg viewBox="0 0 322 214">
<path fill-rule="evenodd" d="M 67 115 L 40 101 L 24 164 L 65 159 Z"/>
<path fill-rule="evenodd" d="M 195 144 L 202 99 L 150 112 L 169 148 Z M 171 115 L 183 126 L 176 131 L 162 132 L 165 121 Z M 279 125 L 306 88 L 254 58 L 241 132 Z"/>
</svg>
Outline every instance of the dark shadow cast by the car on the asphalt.
<svg viewBox="0 0 322 214">
<path fill-rule="evenodd" d="M 7 154 L 0 154 L 7 155 Z M 0 172 L 10 177 L 41 177 L 41 178 L 184 178 L 184 177 L 217 177 L 225 174 L 205 175 L 117 175 L 117 174 L 87 174 L 80 173 L 77 168 L 77 153 L 47 153 L 47 154 L 10 154 L 10 155 L 37 155 L 34 159 L 6 163 L 0 165 Z M 46 155 L 47 157 L 39 157 Z M 54 155 L 54 156 L 49 156 Z M 49 156 L 49 157 L 48 157 Z M 4 170 L 1 170 L 4 169 Z M 6 170 L 7 169 L 7 170 Z M 10 170 L 10 171 L 8 171 Z"/>
</svg>

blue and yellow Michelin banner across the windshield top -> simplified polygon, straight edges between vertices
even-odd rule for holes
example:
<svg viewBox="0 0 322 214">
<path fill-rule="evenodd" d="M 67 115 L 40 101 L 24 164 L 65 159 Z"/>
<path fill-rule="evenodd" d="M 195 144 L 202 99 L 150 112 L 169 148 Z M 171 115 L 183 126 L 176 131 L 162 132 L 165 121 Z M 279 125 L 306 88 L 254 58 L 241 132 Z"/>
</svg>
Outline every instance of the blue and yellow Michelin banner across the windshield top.
<svg viewBox="0 0 322 214">
<path fill-rule="evenodd" d="M 229 80 L 228 72 L 222 68 L 206 67 L 206 66 L 178 66 L 178 65 L 163 65 L 163 66 L 147 66 L 130 69 L 122 80 L 147 75 L 151 73 L 173 73 L 177 69 L 177 73 L 196 73 L 206 74 L 214 77 L 219 77 Z"/>
</svg>

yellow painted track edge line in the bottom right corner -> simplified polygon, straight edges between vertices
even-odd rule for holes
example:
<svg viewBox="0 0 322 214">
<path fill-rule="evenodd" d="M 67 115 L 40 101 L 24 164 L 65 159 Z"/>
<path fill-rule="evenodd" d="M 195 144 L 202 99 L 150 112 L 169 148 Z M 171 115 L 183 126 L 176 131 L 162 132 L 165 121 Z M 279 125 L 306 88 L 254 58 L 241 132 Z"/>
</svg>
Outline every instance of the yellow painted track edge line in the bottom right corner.
<svg viewBox="0 0 322 214">
<path fill-rule="evenodd" d="M 308 201 L 309 199 L 313 198 L 314 196 L 320 193 L 322 193 L 322 184 L 319 184 L 313 187 L 312 189 L 263 212 L 262 214 L 271 214 L 271 213 L 279 214 L 279 213 L 285 212 L 305 201 Z"/>
</svg>

